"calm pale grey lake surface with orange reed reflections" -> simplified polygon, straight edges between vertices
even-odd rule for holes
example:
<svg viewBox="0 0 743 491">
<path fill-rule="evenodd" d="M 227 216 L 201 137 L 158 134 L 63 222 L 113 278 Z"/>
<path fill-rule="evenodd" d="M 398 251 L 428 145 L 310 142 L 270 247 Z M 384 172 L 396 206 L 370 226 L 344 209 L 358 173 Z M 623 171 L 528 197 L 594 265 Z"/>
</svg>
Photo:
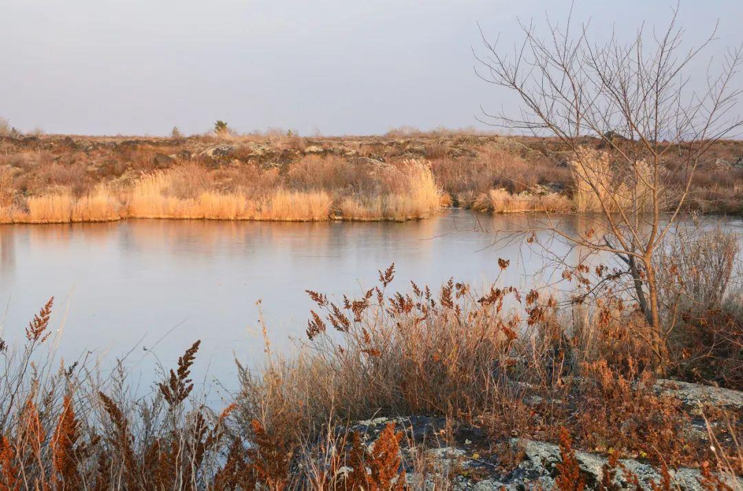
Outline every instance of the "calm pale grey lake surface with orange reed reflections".
<svg viewBox="0 0 743 491">
<path fill-rule="evenodd" d="M 129 354 L 134 382 L 149 386 L 158 360 L 174 366 L 201 339 L 195 377 L 206 380 L 208 372 L 234 386 L 234 358 L 255 365 L 264 356 L 258 300 L 273 352 L 291 354 L 292 339 L 304 339 L 314 306 L 305 289 L 334 299 L 357 296 L 393 262 L 397 273 L 389 288 L 400 290 L 409 289 L 410 280 L 438 290 L 450 277 L 484 288 L 499 277 L 499 257 L 511 263 L 502 285 L 531 287 L 527 277 L 533 274 L 541 285 L 556 282 L 562 271 L 542 267 L 542 248 L 493 234 L 533 220 L 452 210 L 407 223 L 2 225 L 0 336 L 19 342 L 53 295 L 52 324 L 61 330 L 58 354 L 65 361 L 89 351 L 111 366 Z M 587 226 L 577 217 L 560 220 L 566 231 Z M 548 250 L 567 248 L 555 242 Z M 578 252 L 571 254 L 575 259 Z"/>
</svg>

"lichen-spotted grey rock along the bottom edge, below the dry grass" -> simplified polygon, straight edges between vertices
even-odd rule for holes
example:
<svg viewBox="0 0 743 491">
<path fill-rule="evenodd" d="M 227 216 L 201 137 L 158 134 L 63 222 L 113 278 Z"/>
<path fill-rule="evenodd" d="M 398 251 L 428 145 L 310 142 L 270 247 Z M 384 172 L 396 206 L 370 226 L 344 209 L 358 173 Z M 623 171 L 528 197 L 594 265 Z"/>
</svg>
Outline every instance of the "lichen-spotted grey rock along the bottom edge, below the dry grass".
<svg viewBox="0 0 743 491">
<path fill-rule="evenodd" d="M 694 384 L 689 384 L 694 385 Z M 704 387 L 703 389 L 707 389 Z M 710 388 L 713 389 L 713 388 Z M 364 446 L 371 446 L 387 424 L 395 424 L 396 431 L 404 431 L 408 438 L 400 442 L 406 481 L 413 490 L 438 490 L 442 483 L 459 491 L 524 491 L 541 488 L 551 490 L 557 478 L 557 465 L 562 460 L 559 446 L 522 438 L 513 438 L 507 443 L 513 451 L 522 452 L 524 458 L 515 468 L 503 472 L 499 455 L 483 451 L 489 444 L 487 438 L 478 435 L 477 429 L 461 422 L 447 421 L 440 417 L 410 416 L 407 418 L 372 418 L 359 421 L 351 429 L 362 434 Z M 442 439 L 444 429 L 449 439 Z M 345 428 L 340 429 L 345 431 Z M 412 438 L 412 446 L 408 445 Z M 477 446 L 478 440 L 481 446 Z M 426 475 L 417 474 L 414 462 L 422 455 L 428 463 Z M 596 489 L 603 478 L 603 469 L 609 459 L 590 452 L 575 452 L 578 465 L 585 477 L 586 489 Z M 614 484 L 620 489 L 634 490 L 630 476 L 637 476 L 643 490 L 651 490 L 652 483 L 660 483 L 661 473 L 655 467 L 634 459 L 621 459 L 617 467 Z M 626 469 L 626 470 L 623 470 Z M 627 474 L 625 474 L 627 472 Z M 677 469 L 670 472 L 674 489 L 702 491 L 701 472 L 698 469 Z M 743 489 L 743 478 L 733 484 L 733 489 Z M 736 487 L 737 485 L 737 487 Z"/>
</svg>

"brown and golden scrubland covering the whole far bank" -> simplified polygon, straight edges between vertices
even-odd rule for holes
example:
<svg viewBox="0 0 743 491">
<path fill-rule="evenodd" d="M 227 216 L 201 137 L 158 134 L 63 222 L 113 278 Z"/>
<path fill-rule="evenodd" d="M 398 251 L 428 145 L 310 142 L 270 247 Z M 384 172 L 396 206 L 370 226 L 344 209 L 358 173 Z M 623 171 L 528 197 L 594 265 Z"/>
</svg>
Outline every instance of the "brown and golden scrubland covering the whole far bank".
<svg viewBox="0 0 743 491">
<path fill-rule="evenodd" d="M 603 177 L 606 193 L 628 200 L 626 188 L 612 187 L 617 175 L 601 142 L 584 143 L 599 167 L 580 164 L 559 142 L 445 132 L 399 139 L 8 136 L 0 142 L 0 222 L 410 220 L 452 204 L 494 213 L 600 211 L 582 179 L 587 172 Z M 685 208 L 740 213 L 743 145 L 718 142 L 713 150 Z M 664 165 L 672 179 L 672 154 Z M 666 208 L 673 204 L 669 197 Z"/>
</svg>

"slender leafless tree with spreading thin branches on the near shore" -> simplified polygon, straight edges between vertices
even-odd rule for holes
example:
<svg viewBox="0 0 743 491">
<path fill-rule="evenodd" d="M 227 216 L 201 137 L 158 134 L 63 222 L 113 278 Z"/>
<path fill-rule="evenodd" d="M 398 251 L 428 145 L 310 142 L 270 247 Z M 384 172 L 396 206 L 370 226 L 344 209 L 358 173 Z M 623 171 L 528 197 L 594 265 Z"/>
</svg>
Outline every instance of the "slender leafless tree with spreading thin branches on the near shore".
<svg viewBox="0 0 743 491">
<path fill-rule="evenodd" d="M 641 26 L 627 43 L 614 34 L 591 42 L 588 24 L 575 28 L 571 16 L 564 27 L 547 19 L 544 38 L 533 23 L 520 23 L 523 39 L 513 50 L 483 35 L 484 54 L 476 53 L 478 76 L 522 101 L 518 115 L 483 111 L 485 121 L 557 138 L 569 151 L 577 211 L 597 214 L 601 226 L 585 234 L 549 220 L 547 226 L 574 245 L 623 261 L 661 367 L 673 326 L 661 318 L 655 253 L 684 211 L 710 146 L 743 123 L 731 111 L 743 46 L 726 51 L 716 75 L 710 59 L 704 85 L 695 90 L 692 62 L 701 61 L 715 32 L 684 48 L 677 12 L 664 30 L 647 33 Z"/>
</svg>

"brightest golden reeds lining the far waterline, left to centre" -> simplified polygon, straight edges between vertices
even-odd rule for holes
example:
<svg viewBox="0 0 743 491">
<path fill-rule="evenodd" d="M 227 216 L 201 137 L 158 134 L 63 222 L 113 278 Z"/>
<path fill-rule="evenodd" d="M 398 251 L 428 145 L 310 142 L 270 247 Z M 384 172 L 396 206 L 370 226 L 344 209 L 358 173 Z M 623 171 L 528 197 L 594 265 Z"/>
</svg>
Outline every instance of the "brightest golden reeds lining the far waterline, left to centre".
<svg viewBox="0 0 743 491">
<path fill-rule="evenodd" d="M 203 191 L 195 197 L 171 193 L 173 172 L 143 176 L 130 188 L 100 185 L 74 197 L 68 189 L 28 197 L 25 205 L 0 206 L 0 223 L 106 222 L 124 218 L 276 220 L 415 220 L 446 204 L 429 168 L 411 165 L 398 189 L 375 196 L 332 196 L 325 190 L 276 188 L 259 196 L 246 191 Z"/>
</svg>

